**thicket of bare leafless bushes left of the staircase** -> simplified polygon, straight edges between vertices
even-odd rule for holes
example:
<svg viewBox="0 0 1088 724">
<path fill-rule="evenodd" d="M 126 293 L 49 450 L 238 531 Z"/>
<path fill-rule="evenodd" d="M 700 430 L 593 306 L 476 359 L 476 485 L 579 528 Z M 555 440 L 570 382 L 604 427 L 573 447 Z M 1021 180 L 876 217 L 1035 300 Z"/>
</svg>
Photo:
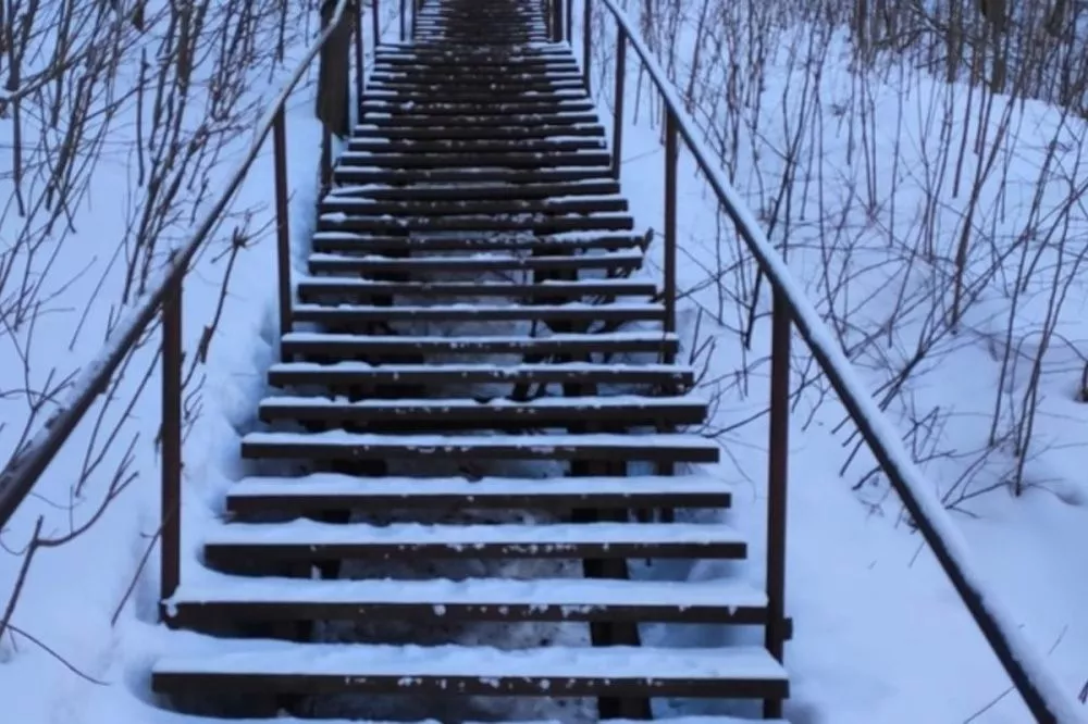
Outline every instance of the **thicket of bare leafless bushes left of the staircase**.
<svg viewBox="0 0 1088 724">
<path fill-rule="evenodd" d="M 0 216 L 0 467 L 218 192 L 217 174 L 250 141 L 308 4 L 0 3 L 0 198 L 10 197 Z M 223 295 L 262 211 L 235 208 L 200 260 L 228 260 Z M 16 515 L 3 532 L 16 558 L 0 564 L 0 637 L 9 635 L 0 646 L 13 640 L 35 552 L 77 538 L 141 472 L 158 417 L 143 415 L 139 435 L 134 415 L 156 374 L 157 336 L 124 362 L 36 489 L 45 512 L 36 522 Z M 210 338 L 206 328 L 201 353 Z M 199 379 L 189 362 L 193 413 Z"/>
</svg>

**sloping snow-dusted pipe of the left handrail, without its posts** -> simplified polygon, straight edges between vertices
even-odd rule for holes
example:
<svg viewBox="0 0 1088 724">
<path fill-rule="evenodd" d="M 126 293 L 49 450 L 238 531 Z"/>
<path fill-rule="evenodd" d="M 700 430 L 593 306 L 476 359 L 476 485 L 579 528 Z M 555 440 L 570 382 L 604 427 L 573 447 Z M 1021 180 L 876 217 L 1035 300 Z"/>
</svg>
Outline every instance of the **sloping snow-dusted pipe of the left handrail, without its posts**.
<svg viewBox="0 0 1088 724">
<path fill-rule="evenodd" d="M 284 85 L 275 102 L 272 103 L 258 124 L 258 135 L 230 177 L 226 190 L 220 195 L 212 208 L 205 214 L 189 240 L 173 252 L 172 261 L 159 274 L 158 280 L 150 286 L 151 290 L 143 295 L 129 308 L 128 313 L 122 317 L 98 358 L 83 369 L 66 400 L 46 419 L 38 433 L 0 471 L 0 528 L 11 520 L 87 410 L 107 388 L 118 367 L 133 350 L 136 341 L 151 324 L 160 308 L 163 307 L 163 302 L 172 296 L 175 289 L 181 287 L 189 262 L 222 221 L 223 212 L 242 186 L 242 182 L 260 153 L 273 126 L 282 121 L 282 114 L 290 93 L 294 92 L 329 38 L 345 22 L 345 17 L 348 16 L 348 8 L 355 4 L 356 0 L 337 1 L 329 25 L 298 63 L 290 79 Z M 361 5 L 361 3 L 359 4 Z M 359 27 L 361 27 L 361 23 Z M 361 67 L 358 72 L 361 73 Z"/>
</svg>

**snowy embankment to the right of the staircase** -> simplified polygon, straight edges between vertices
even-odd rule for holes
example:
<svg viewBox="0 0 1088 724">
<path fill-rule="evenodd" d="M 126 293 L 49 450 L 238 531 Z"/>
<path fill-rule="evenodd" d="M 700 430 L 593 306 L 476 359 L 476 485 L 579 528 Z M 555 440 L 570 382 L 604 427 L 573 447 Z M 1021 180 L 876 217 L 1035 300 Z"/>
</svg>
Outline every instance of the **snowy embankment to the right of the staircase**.
<svg viewBox="0 0 1088 724">
<path fill-rule="evenodd" d="M 783 17 L 786 2 L 651 4 L 643 29 L 705 140 L 1072 696 L 1088 676 L 1084 122 L 897 65 L 855 73 L 843 28 Z M 594 23 L 594 90 L 610 118 L 615 36 L 604 13 Z M 627 89 L 623 190 L 641 227 L 660 229 L 660 108 L 630 51 Z M 679 178 L 681 327 L 718 399 L 706 434 L 738 484 L 728 520 L 764 541 L 768 292 L 683 153 Z M 793 354 L 788 717 L 1030 721 L 800 340 Z M 655 632 L 704 646 L 714 635 Z"/>
</svg>

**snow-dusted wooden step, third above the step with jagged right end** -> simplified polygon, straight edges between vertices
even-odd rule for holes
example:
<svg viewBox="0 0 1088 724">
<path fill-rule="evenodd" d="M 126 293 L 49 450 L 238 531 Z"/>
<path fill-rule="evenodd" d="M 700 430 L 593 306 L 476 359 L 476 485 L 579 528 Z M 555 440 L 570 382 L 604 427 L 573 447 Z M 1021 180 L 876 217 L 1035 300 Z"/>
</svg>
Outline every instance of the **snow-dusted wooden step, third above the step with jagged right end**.
<svg viewBox="0 0 1088 724">
<path fill-rule="evenodd" d="M 487 184 L 483 186 L 459 187 L 400 187 L 395 186 L 337 186 L 330 190 L 323 202 L 339 202 L 344 199 L 373 199 L 375 201 L 398 201 L 415 204 L 423 203 L 468 203 L 499 201 L 549 201 L 566 203 L 579 201 L 584 197 L 590 200 L 602 197 L 617 197 L 619 183 L 606 179 L 592 179 L 577 184 L 524 184 L 508 186 L 504 184 Z M 623 199 L 627 197 L 618 196 Z"/>
</svg>

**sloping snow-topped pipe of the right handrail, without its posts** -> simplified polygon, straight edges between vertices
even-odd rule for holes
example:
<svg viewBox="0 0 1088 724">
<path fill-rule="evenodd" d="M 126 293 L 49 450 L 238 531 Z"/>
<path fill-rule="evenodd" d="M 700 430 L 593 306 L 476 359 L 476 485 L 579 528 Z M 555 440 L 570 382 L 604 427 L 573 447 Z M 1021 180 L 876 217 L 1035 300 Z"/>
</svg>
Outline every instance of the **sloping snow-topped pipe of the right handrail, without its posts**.
<svg viewBox="0 0 1088 724">
<path fill-rule="evenodd" d="M 585 3 L 584 16 L 589 18 L 592 0 L 582 1 Z M 564 2 L 564 0 L 553 0 L 553 2 Z M 570 0 L 567 2 L 569 9 Z M 976 573 L 978 569 L 972 561 L 962 534 L 954 527 L 948 512 L 929 488 L 895 427 L 854 373 L 853 365 L 824 324 L 816 308 L 794 282 L 786 261 L 775 250 L 755 216 L 744 205 L 741 196 L 730 186 L 721 168 L 712 163 L 705 147 L 695 135 L 694 122 L 683 110 L 684 105 L 669 83 L 668 76 L 640 37 L 639 30 L 616 0 L 599 0 L 599 2 L 616 21 L 618 41 L 623 42 L 626 39 L 630 42 L 642 60 L 643 66 L 662 95 L 670 116 L 670 125 L 683 137 L 692 158 L 714 189 L 718 203 L 732 220 L 758 262 L 761 271 L 770 282 L 776 311 L 784 307 L 789 316 L 776 314 L 778 317 L 775 324 L 776 334 L 772 336 L 781 341 L 782 328 L 784 327 L 788 333 L 788 326 L 780 324 L 780 319 L 796 326 L 880 464 L 883 474 L 903 501 L 903 505 L 1036 721 L 1041 724 L 1086 722 L 1080 709 L 1063 690 L 1042 656 L 1023 636 L 1016 622 L 1006 614 L 1004 607 L 998 600 L 999 597 L 979 579 Z M 568 10 L 565 14 L 569 17 L 571 13 Z M 586 29 L 583 28 L 583 33 L 585 38 L 589 38 L 592 33 L 588 33 Z M 573 46 L 569 32 L 566 39 Z M 584 47 L 589 49 L 589 41 L 585 41 Z M 588 61 L 589 53 L 583 68 L 585 72 L 590 65 Z"/>
</svg>

